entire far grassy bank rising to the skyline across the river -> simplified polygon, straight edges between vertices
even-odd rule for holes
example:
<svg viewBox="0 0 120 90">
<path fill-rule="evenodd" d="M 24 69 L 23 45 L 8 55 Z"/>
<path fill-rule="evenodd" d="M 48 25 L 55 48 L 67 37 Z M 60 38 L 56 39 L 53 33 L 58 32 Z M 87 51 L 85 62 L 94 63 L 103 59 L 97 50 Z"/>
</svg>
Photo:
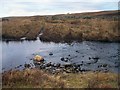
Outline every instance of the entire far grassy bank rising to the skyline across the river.
<svg viewBox="0 0 120 90">
<path fill-rule="evenodd" d="M 118 11 L 61 14 L 2 19 L 3 39 L 36 39 L 54 42 L 120 41 Z"/>
</svg>

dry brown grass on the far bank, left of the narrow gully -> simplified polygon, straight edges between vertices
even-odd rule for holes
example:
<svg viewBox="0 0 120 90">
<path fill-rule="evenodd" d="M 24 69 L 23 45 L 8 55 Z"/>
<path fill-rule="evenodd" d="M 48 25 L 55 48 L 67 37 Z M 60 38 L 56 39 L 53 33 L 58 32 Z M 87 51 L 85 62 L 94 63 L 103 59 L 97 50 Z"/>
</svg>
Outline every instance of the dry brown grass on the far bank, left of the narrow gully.
<svg viewBox="0 0 120 90">
<path fill-rule="evenodd" d="M 32 18 L 11 18 L 9 21 L 2 22 L 3 38 L 20 39 L 35 39 L 43 27 L 44 21 L 35 21 Z"/>
</svg>

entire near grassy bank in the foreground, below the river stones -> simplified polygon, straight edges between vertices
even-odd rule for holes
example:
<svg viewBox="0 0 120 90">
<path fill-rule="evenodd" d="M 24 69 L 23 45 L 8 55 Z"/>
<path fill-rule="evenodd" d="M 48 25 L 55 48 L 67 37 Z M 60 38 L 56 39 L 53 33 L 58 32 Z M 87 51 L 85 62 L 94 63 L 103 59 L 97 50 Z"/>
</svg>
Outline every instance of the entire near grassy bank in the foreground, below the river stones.
<svg viewBox="0 0 120 90">
<path fill-rule="evenodd" d="M 2 74 L 3 88 L 118 88 L 114 73 L 84 72 L 49 74 L 38 69 Z"/>
</svg>

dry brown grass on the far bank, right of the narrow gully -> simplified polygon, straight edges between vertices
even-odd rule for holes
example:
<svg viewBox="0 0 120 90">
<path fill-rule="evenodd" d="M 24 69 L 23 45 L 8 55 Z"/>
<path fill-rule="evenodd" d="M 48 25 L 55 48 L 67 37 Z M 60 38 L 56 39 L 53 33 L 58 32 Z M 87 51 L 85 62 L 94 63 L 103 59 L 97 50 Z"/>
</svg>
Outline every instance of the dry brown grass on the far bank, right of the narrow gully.
<svg viewBox="0 0 120 90">
<path fill-rule="evenodd" d="M 41 39 L 119 41 L 118 21 L 106 19 L 67 20 L 64 23 L 48 23 Z"/>
</svg>

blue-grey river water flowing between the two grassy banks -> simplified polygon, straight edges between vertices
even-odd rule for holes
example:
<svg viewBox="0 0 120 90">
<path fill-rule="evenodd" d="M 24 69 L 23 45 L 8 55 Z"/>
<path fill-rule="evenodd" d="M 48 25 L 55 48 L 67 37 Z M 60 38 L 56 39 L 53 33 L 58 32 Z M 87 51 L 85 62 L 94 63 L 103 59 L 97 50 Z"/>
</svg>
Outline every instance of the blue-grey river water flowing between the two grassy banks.
<svg viewBox="0 0 120 90">
<path fill-rule="evenodd" d="M 87 70 L 106 70 L 118 72 L 119 59 L 118 50 L 120 43 L 102 43 L 84 41 L 81 43 L 44 43 L 40 40 L 23 41 L 9 43 L 0 42 L 2 45 L 2 70 L 24 68 L 25 63 L 29 63 L 34 67 L 31 60 L 34 55 L 39 54 L 44 57 L 46 62 L 52 63 L 74 63 L 81 64 L 81 68 Z M 50 53 L 53 53 L 50 56 Z M 70 61 L 61 61 L 61 58 L 71 58 Z M 94 63 L 94 58 L 98 61 Z M 104 67 L 101 67 L 104 65 Z"/>
</svg>

